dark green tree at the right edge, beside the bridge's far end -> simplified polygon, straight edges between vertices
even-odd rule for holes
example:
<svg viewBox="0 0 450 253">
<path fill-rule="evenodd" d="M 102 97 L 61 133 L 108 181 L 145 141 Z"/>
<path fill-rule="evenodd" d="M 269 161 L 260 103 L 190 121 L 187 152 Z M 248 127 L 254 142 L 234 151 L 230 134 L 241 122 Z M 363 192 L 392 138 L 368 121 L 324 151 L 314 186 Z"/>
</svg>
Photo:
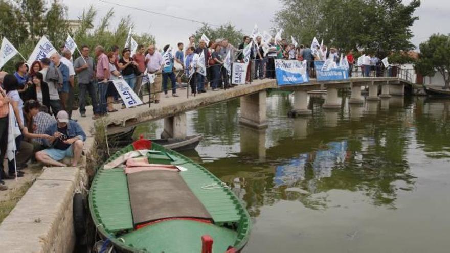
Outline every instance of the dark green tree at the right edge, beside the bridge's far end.
<svg viewBox="0 0 450 253">
<path fill-rule="evenodd" d="M 423 76 L 439 72 L 444 78 L 444 88 L 450 89 L 450 35 L 433 34 L 428 41 L 420 43 L 419 48 L 417 71 Z"/>
</svg>

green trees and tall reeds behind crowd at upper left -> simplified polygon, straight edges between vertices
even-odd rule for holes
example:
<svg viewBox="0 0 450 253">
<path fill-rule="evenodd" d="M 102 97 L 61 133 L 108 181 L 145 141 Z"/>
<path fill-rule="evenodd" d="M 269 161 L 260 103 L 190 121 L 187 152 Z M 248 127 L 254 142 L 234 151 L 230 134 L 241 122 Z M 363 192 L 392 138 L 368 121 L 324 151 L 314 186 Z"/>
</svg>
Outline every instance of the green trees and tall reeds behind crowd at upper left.
<svg viewBox="0 0 450 253">
<path fill-rule="evenodd" d="M 77 45 L 88 45 L 92 49 L 96 45 L 103 45 L 109 50 L 113 45 L 122 48 L 128 35 L 129 28 L 133 26 L 128 15 L 121 18 L 116 29 L 109 29 L 109 21 L 114 18 L 114 10 L 110 9 L 101 18 L 99 25 L 94 28 L 97 11 L 93 6 L 83 10 L 79 29 L 71 31 L 68 22 L 68 8 L 59 0 L 13 0 L 14 2 L 0 0 L 0 37 L 7 37 L 17 50 L 27 57 L 36 46 L 39 39 L 46 35 L 56 49 L 65 43 L 67 34 L 71 33 Z M 21 22 L 20 20 L 24 20 Z M 14 32 L 11 32 L 14 31 Z M 154 44 L 154 36 L 143 33 L 133 34 L 134 40 L 139 44 Z M 75 53 L 78 57 L 78 53 Z M 94 52 L 92 52 L 94 54 Z M 11 72 L 15 62 L 21 60 L 15 56 L 5 66 L 5 71 Z"/>
</svg>

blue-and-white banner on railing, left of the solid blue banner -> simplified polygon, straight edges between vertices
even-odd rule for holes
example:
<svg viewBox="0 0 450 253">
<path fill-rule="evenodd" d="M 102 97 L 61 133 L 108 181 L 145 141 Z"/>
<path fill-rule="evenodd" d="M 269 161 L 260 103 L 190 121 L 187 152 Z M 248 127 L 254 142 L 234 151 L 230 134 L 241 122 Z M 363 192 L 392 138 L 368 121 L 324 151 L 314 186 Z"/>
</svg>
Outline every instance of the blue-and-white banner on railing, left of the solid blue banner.
<svg viewBox="0 0 450 253">
<path fill-rule="evenodd" d="M 275 60 L 275 74 L 278 85 L 292 85 L 309 82 L 306 60 Z"/>
</svg>

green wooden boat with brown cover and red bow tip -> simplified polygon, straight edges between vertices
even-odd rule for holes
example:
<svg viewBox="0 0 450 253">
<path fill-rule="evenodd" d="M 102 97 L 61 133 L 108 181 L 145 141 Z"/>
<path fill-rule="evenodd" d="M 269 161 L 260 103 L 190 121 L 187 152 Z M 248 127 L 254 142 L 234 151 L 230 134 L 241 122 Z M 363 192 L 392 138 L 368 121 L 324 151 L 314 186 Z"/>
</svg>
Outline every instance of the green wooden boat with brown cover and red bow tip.
<svg viewBox="0 0 450 253">
<path fill-rule="evenodd" d="M 126 146 L 97 171 L 89 209 L 100 236 L 116 252 L 240 251 L 251 231 L 241 200 L 205 168 L 149 142 Z M 149 165 L 135 166 L 142 161 Z"/>
</svg>

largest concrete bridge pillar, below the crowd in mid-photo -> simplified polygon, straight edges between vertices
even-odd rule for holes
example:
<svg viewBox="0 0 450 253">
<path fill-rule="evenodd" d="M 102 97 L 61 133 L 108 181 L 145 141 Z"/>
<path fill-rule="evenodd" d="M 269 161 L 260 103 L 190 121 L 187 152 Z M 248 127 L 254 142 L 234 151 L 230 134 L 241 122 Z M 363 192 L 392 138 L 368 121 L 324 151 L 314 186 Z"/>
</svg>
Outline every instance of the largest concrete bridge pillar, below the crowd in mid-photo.
<svg viewBox="0 0 450 253">
<path fill-rule="evenodd" d="M 266 91 L 241 97 L 241 115 L 239 122 L 257 129 L 267 128 Z"/>
</svg>

